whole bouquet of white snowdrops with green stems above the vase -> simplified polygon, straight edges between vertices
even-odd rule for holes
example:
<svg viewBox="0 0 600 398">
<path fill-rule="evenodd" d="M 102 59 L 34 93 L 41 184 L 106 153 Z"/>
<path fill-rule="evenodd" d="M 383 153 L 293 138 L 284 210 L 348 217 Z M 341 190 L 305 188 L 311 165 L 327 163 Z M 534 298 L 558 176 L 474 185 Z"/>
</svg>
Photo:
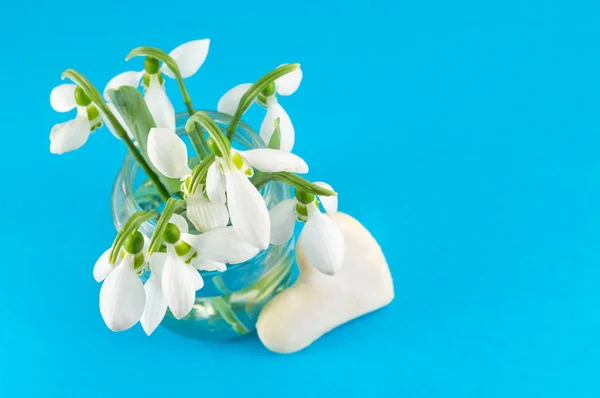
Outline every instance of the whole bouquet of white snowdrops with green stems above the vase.
<svg viewBox="0 0 600 398">
<path fill-rule="evenodd" d="M 167 309 L 177 319 L 185 317 L 204 284 L 199 271 L 226 271 L 229 264 L 248 261 L 270 244 L 286 243 L 297 221 L 304 223 L 300 239 L 315 268 L 333 275 L 342 265 L 342 233 L 319 207 L 336 212 L 337 194 L 326 183 L 298 175 L 307 173 L 308 165 L 291 153 L 294 127 L 278 102 L 298 89 L 300 65 L 281 65 L 255 83 L 225 93 L 217 108 L 232 117 L 223 133 L 208 113 L 194 110 L 184 83 L 204 63 L 209 44 L 208 39 L 196 40 L 169 54 L 138 47 L 126 59 L 144 57 L 143 70 L 115 76 L 103 94 L 68 69 L 62 78 L 74 84 L 59 85 L 50 95 L 57 112 L 77 111 L 74 119 L 52 128 L 52 153 L 80 148 L 90 133 L 106 125 L 125 143 L 164 201 L 160 212 L 131 216 L 94 266 L 94 278 L 103 281 L 100 312 L 113 331 L 140 321 L 149 335 Z M 197 155 L 191 168 L 186 144 L 175 133 L 165 77 L 177 83 L 189 114 L 185 130 Z M 230 140 L 254 103 L 266 108 L 260 136 L 267 148 L 234 149 Z M 269 211 L 261 190 L 271 181 L 293 187 L 295 197 Z M 154 233 L 144 236 L 138 229 L 152 219 Z"/>
</svg>

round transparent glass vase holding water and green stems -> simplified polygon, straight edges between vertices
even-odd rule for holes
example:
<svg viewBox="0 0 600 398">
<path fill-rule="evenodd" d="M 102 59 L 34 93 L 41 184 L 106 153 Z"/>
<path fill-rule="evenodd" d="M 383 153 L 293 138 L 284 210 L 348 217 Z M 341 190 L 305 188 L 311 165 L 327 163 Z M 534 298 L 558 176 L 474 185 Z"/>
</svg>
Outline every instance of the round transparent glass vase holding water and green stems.
<svg viewBox="0 0 600 398">
<path fill-rule="evenodd" d="M 230 117 L 208 112 L 224 132 Z M 177 116 L 177 133 L 185 136 L 183 126 L 187 114 Z M 240 123 L 232 140 L 238 149 L 265 147 L 260 136 L 249 126 Z M 189 153 L 194 153 L 193 150 Z M 192 160 L 193 161 L 193 160 Z M 270 209 L 290 197 L 288 186 L 271 182 L 261 193 Z M 112 192 L 112 216 L 117 230 L 129 217 L 140 210 L 160 209 L 164 204 L 144 171 L 135 159 L 127 154 L 117 175 Z M 140 227 L 147 237 L 154 231 L 155 221 Z M 278 246 L 269 246 L 253 259 L 228 265 L 224 272 L 204 272 L 204 287 L 196 292 L 192 311 L 176 320 L 170 311 L 163 320 L 164 326 L 176 333 L 200 339 L 225 340 L 241 336 L 255 329 L 262 307 L 292 282 L 294 265 L 294 240 Z M 148 275 L 143 275 L 142 279 Z"/>
</svg>

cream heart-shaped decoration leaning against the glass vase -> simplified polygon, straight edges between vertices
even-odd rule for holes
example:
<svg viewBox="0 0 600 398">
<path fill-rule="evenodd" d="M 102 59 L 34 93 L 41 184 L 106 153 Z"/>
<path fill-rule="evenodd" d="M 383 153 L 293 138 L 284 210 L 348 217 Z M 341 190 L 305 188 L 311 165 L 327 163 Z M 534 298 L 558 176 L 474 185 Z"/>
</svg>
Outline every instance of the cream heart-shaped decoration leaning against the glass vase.
<svg viewBox="0 0 600 398">
<path fill-rule="evenodd" d="M 334 276 L 322 274 L 308 263 L 298 243 L 298 280 L 263 308 L 256 325 L 258 337 L 271 351 L 302 350 L 394 298 L 392 276 L 375 238 L 347 214 L 338 212 L 331 218 L 344 234 L 344 265 Z"/>
</svg>

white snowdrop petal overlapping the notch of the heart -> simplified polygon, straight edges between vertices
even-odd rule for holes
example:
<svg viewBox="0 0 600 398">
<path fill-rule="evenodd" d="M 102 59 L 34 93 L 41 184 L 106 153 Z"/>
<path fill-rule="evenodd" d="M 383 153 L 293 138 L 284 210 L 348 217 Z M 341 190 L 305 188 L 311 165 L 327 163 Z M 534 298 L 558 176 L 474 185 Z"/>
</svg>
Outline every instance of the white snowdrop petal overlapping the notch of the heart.
<svg viewBox="0 0 600 398">
<path fill-rule="evenodd" d="M 304 255 L 313 267 L 326 275 L 334 275 L 344 260 L 342 231 L 315 205 L 309 205 L 307 208 L 308 221 L 300 233 Z"/>
</svg>

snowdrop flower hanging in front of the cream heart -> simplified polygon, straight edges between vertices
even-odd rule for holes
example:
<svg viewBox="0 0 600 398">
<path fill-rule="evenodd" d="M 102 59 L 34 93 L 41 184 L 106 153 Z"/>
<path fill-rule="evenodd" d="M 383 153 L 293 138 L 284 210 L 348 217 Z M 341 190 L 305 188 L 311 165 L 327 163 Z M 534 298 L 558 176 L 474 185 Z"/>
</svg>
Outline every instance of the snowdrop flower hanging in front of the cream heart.
<svg viewBox="0 0 600 398">
<path fill-rule="evenodd" d="M 329 184 L 315 184 L 332 190 Z M 327 213 L 337 211 L 337 196 L 317 197 Z M 339 227 L 321 213 L 314 195 L 297 190 L 295 198 L 281 201 L 271 209 L 269 215 L 272 244 L 287 242 L 294 234 L 296 220 L 305 222 L 300 241 L 306 259 L 327 275 L 333 275 L 340 269 L 344 259 L 344 236 Z"/>
</svg>

